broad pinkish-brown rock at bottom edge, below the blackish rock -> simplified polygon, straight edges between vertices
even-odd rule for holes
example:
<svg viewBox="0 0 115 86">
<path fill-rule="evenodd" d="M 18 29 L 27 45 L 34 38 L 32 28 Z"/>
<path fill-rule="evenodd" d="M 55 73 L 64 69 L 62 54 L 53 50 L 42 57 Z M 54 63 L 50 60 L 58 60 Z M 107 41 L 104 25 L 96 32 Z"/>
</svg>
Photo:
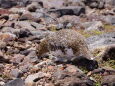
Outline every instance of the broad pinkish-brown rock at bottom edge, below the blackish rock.
<svg viewBox="0 0 115 86">
<path fill-rule="evenodd" d="M 54 83 L 58 86 L 93 86 L 91 81 L 80 69 L 68 65 L 64 70 L 57 69 L 53 74 Z"/>
</svg>

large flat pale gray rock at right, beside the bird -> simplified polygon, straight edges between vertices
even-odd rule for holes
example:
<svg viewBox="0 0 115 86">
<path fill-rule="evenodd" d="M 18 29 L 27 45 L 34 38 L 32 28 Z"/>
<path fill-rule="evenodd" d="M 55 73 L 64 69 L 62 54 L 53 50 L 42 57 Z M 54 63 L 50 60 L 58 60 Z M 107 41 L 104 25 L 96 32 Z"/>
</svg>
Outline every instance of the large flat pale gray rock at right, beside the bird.
<svg viewBox="0 0 115 86">
<path fill-rule="evenodd" d="M 87 43 L 91 50 L 99 46 L 115 44 L 115 33 L 110 32 L 102 35 L 91 36 L 87 38 Z"/>
</svg>

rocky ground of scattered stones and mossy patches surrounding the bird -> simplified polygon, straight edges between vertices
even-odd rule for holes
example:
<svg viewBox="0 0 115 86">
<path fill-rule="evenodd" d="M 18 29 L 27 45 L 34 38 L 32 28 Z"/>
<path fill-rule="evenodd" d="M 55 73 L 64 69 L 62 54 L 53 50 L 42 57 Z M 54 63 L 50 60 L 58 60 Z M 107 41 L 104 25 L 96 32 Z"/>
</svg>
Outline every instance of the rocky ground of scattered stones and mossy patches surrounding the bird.
<svg viewBox="0 0 115 86">
<path fill-rule="evenodd" d="M 115 86 L 115 0 L 0 0 L 0 86 Z M 98 61 L 88 71 L 39 58 L 49 33 L 75 29 Z"/>
</svg>

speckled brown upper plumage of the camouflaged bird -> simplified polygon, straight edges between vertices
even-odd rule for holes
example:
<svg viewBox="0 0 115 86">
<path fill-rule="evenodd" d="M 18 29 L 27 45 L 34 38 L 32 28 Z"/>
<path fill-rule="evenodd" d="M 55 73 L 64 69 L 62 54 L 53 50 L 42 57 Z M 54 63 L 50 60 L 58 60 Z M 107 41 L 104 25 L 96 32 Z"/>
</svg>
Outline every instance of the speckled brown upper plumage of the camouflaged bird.
<svg viewBox="0 0 115 86">
<path fill-rule="evenodd" d="M 72 29 L 63 29 L 49 34 L 39 45 L 38 52 L 42 55 L 49 51 L 60 49 L 65 52 L 65 48 L 72 49 L 75 56 L 92 57 L 85 38 Z"/>
</svg>

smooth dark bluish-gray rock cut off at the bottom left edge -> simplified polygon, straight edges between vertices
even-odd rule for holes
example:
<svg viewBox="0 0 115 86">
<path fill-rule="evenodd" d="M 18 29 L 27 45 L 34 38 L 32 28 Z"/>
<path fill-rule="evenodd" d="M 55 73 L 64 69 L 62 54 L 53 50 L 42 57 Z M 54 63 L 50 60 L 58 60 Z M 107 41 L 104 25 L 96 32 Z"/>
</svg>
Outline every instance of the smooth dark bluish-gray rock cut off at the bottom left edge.
<svg viewBox="0 0 115 86">
<path fill-rule="evenodd" d="M 24 86 L 24 81 L 18 78 L 7 82 L 4 86 Z"/>
</svg>

